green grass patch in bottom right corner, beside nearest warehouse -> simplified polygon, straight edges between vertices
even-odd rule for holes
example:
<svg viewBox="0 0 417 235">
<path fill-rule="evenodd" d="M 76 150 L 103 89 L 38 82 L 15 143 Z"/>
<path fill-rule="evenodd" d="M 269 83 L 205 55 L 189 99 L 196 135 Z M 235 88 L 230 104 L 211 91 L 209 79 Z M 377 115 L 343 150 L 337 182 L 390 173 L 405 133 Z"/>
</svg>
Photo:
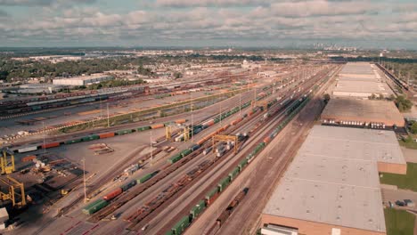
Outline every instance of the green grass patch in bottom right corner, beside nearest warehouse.
<svg viewBox="0 0 417 235">
<path fill-rule="evenodd" d="M 387 235 L 413 234 L 415 215 L 394 208 L 385 208 L 384 214 Z"/>
</svg>

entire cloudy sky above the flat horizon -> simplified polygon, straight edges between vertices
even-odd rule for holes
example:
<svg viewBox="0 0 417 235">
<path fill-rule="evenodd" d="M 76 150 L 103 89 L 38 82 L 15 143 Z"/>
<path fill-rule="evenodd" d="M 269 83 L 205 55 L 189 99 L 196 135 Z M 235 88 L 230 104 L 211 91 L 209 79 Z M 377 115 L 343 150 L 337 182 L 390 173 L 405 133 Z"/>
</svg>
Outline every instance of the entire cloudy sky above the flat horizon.
<svg viewBox="0 0 417 235">
<path fill-rule="evenodd" d="M 415 0 L 0 0 L 0 46 L 417 49 Z"/>
</svg>

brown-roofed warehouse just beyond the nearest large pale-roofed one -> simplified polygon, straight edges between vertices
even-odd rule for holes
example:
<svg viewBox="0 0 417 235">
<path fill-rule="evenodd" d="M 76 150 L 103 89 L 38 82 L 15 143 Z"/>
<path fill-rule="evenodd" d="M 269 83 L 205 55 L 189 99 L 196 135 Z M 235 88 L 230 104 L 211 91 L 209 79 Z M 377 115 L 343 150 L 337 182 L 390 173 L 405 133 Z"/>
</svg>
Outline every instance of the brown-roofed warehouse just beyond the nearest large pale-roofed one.
<svg viewBox="0 0 417 235">
<path fill-rule="evenodd" d="M 369 101 L 355 98 L 333 98 L 322 113 L 323 123 L 353 126 L 398 126 L 405 120 L 393 101 Z"/>
</svg>

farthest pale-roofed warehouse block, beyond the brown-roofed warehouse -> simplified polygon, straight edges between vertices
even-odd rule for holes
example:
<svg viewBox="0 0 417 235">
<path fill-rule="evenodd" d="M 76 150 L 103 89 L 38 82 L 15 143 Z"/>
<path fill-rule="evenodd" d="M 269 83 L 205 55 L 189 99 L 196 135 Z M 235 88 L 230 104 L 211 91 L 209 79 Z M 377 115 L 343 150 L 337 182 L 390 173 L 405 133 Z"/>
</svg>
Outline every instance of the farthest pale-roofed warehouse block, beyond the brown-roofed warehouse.
<svg viewBox="0 0 417 235">
<path fill-rule="evenodd" d="M 368 98 L 375 95 L 388 97 L 392 94 L 381 79 L 377 68 L 370 63 L 347 63 L 339 72 L 334 96 Z"/>
</svg>

